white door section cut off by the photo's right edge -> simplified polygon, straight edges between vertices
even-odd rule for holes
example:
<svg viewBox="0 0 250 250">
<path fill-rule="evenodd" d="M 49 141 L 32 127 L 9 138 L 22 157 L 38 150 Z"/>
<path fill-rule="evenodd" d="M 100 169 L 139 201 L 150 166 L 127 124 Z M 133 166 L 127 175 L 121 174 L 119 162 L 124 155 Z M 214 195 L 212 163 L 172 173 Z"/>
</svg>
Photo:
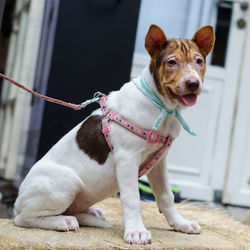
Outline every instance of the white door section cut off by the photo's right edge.
<svg viewBox="0 0 250 250">
<path fill-rule="evenodd" d="M 250 10 L 248 10 L 247 23 L 250 22 Z M 234 126 L 232 129 L 232 138 L 230 144 L 230 154 L 228 158 L 228 169 L 225 178 L 225 186 L 223 192 L 223 203 L 250 206 L 250 189 L 241 188 L 243 167 L 245 166 L 246 144 L 249 140 L 248 126 L 250 119 L 247 114 L 250 113 L 249 108 L 249 66 L 250 66 L 250 26 L 247 27 L 247 38 L 244 44 L 244 54 L 242 55 L 241 76 L 239 79 L 239 87 L 237 92 L 237 100 L 234 112 Z M 249 147 L 249 146 L 248 146 Z M 248 148 L 249 149 L 249 148 Z M 249 177 L 250 178 L 250 177 Z M 250 179 L 248 184 L 250 185 Z"/>
</svg>

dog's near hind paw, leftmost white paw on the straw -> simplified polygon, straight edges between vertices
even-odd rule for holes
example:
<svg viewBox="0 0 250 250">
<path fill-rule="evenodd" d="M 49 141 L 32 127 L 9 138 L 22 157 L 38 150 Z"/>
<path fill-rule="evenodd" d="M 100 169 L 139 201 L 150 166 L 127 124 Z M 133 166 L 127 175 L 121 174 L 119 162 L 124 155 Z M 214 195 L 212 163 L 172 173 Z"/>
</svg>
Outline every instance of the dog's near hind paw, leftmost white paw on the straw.
<svg viewBox="0 0 250 250">
<path fill-rule="evenodd" d="M 79 224 L 74 216 L 58 216 L 56 228 L 59 231 L 76 231 L 79 229 Z"/>
</svg>

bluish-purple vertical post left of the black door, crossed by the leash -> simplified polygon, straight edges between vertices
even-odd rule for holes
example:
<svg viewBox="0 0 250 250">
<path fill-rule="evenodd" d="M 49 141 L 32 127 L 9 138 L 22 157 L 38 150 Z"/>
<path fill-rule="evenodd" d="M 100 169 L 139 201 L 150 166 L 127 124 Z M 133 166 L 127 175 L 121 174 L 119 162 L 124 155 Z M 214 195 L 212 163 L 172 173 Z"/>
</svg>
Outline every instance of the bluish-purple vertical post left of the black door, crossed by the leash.
<svg viewBox="0 0 250 250">
<path fill-rule="evenodd" d="M 45 95 L 47 91 L 59 5 L 60 0 L 46 0 L 44 6 L 43 27 L 41 30 L 41 41 L 34 80 L 34 90 L 43 95 Z M 43 99 L 33 98 L 27 133 L 27 146 L 21 169 L 20 182 L 27 175 L 31 166 L 37 161 L 44 106 L 45 101 Z M 29 145 L 32 145 L 32 147 Z"/>
</svg>

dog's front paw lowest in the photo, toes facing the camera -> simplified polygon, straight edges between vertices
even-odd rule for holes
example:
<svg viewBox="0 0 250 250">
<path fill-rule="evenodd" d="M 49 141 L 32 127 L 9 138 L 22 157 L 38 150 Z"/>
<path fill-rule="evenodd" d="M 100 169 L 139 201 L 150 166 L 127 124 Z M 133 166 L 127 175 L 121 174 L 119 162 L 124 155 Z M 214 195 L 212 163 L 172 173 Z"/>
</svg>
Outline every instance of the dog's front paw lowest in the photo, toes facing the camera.
<svg viewBox="0 0 250 250">
<path fill-rule="evenodd" d="M 124 234 L 124 240 L 128 244 L 151 244 L 151 232 L 148 230 L 129 230 Z"/>
</svg>

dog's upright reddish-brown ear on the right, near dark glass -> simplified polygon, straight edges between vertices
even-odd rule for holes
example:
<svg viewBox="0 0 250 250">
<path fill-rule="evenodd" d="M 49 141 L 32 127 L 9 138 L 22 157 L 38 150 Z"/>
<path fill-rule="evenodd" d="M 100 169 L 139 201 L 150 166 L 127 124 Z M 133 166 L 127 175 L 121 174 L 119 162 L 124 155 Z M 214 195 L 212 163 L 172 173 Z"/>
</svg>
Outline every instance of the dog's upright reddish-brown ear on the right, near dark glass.
<svg viewBox="0 0 250 250">
<path fill-rule="evenodd" d="M 214 28 L 211 25 L 206 25 L 199 28 L 192 40 L 196 42 L 204 56 L 207 56 L 212 50 L 215 42 Z"/>
</svg>

